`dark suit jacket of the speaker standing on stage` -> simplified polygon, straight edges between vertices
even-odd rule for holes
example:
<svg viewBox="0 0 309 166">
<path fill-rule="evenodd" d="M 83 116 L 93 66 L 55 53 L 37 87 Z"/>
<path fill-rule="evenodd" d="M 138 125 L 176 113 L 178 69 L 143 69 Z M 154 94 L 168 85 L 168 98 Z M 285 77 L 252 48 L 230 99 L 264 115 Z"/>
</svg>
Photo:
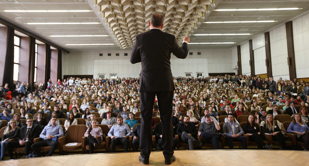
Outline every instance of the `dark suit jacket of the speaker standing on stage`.
<svg viewBox="0 0 309 166">
<path fill-rule="evenodd" d="M 184 59 L 189 48 L 182 43 L 181 48 L 174 35 L 151 29 L 136 36 L 130 62 L 142 62 L 140 92 L 158 92 L 175 90 L 171 73 L 171 53 Z"/>
</svg>

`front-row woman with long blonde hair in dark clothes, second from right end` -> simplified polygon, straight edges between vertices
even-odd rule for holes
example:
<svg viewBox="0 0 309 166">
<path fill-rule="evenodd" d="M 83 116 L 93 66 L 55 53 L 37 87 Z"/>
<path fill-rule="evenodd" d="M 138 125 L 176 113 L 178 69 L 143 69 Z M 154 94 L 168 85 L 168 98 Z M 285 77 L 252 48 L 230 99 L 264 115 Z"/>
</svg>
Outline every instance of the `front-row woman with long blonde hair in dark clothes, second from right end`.
<svg viewBox="0 0 309 166">
<path fill-rule="evenodd" d="M 268 114 L 266 116 L 266 122 L 264 124 L 264 132 L 271 134 L 273 140 L 279 142 L 280 150 L 286 149 L 286 140 L 279 126 L 274 122 L 272 114 Z"/>
</svg>

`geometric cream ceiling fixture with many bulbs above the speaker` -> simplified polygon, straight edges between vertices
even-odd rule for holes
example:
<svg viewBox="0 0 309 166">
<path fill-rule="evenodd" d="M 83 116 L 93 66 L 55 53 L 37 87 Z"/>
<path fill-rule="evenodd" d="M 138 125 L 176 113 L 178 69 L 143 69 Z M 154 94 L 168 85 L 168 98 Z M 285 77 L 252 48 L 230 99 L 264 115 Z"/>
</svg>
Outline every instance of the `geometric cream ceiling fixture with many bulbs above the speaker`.
<svg viewBox="0 0 309 166">
<path fill-rule="evenodd" d="M 191 36 L 209 14 L 208 5 L 214 0 L 95 0 L 99 14 L 112 30 L 112 37 L 122 49 L 132 48 L 138 33 L 146 32 L 153 13 L 165 17 L 162 31 L 173 34 L 178 43 L 188 34 Z"/>
</svg>

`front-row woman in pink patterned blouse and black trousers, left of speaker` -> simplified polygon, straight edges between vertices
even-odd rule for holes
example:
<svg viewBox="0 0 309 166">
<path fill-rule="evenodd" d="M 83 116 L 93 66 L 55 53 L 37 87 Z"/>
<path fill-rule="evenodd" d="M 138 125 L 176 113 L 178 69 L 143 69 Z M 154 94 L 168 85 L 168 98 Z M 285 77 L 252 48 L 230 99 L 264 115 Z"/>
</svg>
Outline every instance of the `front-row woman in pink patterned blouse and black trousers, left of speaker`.
<svg viewBox="0 0 309 166">
<path fill-rule="evenodd" d="M 87 129 L 84 136 L 87 137 L 89 154 L 93 153 L 94 148 L 98 147 L 98 144 L 105 141 L 105 135 L 101 127 L 97 126 L 97 121 L 95 119 L 91 120 L 91 126 Z"/>
</svg>

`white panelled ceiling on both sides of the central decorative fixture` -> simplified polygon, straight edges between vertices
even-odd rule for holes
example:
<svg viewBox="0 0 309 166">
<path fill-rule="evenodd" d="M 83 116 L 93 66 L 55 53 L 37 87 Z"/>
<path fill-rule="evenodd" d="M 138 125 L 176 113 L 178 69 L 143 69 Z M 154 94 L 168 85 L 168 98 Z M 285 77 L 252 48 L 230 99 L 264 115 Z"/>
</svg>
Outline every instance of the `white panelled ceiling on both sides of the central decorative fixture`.
<svg viewBox="0 0 309 166">
<path fill-rule="evenodd" d="M 83 1 L 83 2 L 80 2 Z M 0 17 L 11 21 L 44 39 L 73 50 L 117 50 L 117 45 L 67 46 L 66 44 L 105 44 L 114 43 L 112 37 L 49 37 L 50 35 L 110 35 L 103 24 L 76 25 L 28 25 L 40 22 L 102 22 L 102 14 L 93 12 L 2 12 L 3 10 L 93 10 L 94 0 L 0 0 Z M 99 2 L 99 0 L 98 0 Z M 194 1 L 195 2 L 195 1 Z M 190 45 L 190 49 L 231 49 L 246 40 L 252 39 L 269 29 L 309 10 L 308 0 L 216 0 L 211 13 L 205 14 L 205 21 L 264 21 L 273 23 L 202 23 L 194 34 L 251 33 L 243 36 L 192 36 L 191 42 L 236 42 L 235 44 Z M 90 6 L 91 4 L 91 6 Z M 214 9 L 254 9 L 254 8 L 303 8 L 282 11 L 212 11 Z M 165 20 L 169 21 L 169 20 Z M 105 25 L 106 27 L 106 25 Z"/>
</svg>

